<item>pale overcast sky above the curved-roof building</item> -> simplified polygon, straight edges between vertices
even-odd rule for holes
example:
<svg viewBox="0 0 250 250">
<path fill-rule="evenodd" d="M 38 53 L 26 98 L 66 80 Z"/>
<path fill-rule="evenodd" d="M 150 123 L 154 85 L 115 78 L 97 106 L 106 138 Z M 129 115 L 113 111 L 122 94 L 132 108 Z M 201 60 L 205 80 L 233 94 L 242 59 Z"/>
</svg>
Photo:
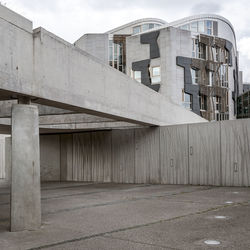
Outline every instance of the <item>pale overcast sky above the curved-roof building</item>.
<svg viewBox="0 0 250 250">
<path fill-rule="evenodd" d="M 201 13 L 224 16 L 233 24 L 240 70 L 250 82 L 249 0 L 1 0 L 2 4 L 69 42 L 85 33 L 103 33 L 144 17 L 167 22 Z"/>
</svg>

